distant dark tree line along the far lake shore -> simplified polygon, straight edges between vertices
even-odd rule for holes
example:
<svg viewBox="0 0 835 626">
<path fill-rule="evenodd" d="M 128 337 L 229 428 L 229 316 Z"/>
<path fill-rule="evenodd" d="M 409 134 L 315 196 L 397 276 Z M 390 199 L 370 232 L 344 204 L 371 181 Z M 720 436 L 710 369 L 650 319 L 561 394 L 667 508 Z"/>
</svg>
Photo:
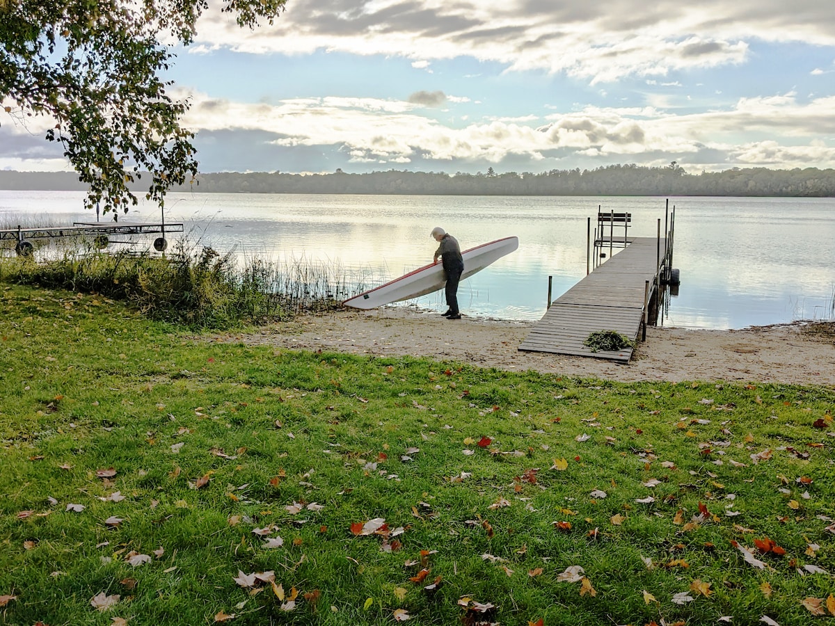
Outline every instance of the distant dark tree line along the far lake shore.
<svg viewBox="0 0 835 626">
<path fill-rule="evenodd" d="M 88 187 L 72 172 L 0 171 L 0 189 L 78 190 Z M 135 189 L 141 190 L 137 186 Z M 710 195 L 762 197 L 835 196 L 835 169 L 732 168 L 688 174 L 675 161 L 664 167 L 636 164 L 596 169 L 552 169 L 539 174 L 444 174 L 389 169 L 366 174 L 221 172 L 198 174 L 172 191 L 260 194 L 415 195 Z"/>
</svg>

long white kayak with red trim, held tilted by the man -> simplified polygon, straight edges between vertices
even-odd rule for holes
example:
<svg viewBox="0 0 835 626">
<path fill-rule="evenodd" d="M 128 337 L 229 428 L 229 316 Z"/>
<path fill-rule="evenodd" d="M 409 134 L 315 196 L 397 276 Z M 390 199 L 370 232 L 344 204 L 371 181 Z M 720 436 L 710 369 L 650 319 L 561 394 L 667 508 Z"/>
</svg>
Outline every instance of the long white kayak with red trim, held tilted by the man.
<svg viewBox="0 0 835 626">
<path fill-rule="evenodd" d="M 461 280 L 483 270 L 493 261 L 501 259 L 504 255 L 509 255 L 517 248 L 519 248 L 519 237 L 505 237 L 464 250 L 461 253 L 464 260 L 464 272 L 461 275 Z M 431 294 L 433 291 L 443 289 L 446 282 L 443 265 L 438 261 L 438 263 L 423 265 L 423 267 L 419 267 L 407 275 L 348 298 L 342 304 L 352 306 L 355 309 L 374 309 L 377 306 L 388 305 L 392 302 Z"/>
</svg>

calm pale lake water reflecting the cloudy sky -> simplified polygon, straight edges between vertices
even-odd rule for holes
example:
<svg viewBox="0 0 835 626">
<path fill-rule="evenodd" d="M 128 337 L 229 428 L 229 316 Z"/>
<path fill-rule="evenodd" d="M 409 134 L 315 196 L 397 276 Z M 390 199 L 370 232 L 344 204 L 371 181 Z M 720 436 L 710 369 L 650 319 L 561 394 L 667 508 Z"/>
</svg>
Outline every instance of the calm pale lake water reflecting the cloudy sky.
<svg viewBox="0 0 835 626">
<path fill-rule="evenodd" d="M 0 224 L 92 221 L 83 194 L 0 191 Z M 656 235 L 676 216 L 681 285 L 659 324 L 737 329 L 835 317 L 835 199 L 566 196 L 170 194 L 165 221 L 190 243 L 244 259 L 338 265 L 374 286 L 432 260 L 441 226 L 462 249 L 509 235 L 519 250 L 464 280 L 464 315 L 538 320 L 548 300 L 586 274 L 598 208 L 632 214 L 630 235 Z M 159 222 L 140 204 L 120 221 Z M 102 220 L 109 220 L 103 216 Z M 147 242 L 149 245 L 150 240 Z M 615 250 L 616 251 L 616 250 Z M 349 280 L 350 284 L 350 280 Z M 443 292 L 409 304 L 444 310 Z"/>
</svg>

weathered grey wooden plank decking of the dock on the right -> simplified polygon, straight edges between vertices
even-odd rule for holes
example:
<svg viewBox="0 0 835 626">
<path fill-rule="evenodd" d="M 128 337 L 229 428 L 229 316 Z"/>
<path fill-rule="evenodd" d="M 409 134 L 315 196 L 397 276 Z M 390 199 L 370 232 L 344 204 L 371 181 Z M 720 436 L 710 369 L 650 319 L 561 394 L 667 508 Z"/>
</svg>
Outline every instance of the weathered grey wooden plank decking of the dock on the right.
<svg viewBox="0 0 835 626">
<path fill-rule="evenodd" d="M 628 362 L 632 348 L 593 352 L 583 342 L 597 331 L 617 331 L 632 341 L 637 340 L 644 320 L 645 300 L 650 301 L 655 294 L 656 275 L 664 264 L 664 239 L 630 238 L 622 250 L 551 303 L 519 351 Z M 647 280 L 650 292 L 645 298 Z"/>
</svg>

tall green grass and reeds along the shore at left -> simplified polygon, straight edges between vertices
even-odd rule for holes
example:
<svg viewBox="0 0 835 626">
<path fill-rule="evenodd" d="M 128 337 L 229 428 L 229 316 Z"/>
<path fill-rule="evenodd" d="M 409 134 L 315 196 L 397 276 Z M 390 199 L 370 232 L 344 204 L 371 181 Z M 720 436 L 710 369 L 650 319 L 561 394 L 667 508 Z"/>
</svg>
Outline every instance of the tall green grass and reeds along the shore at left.
<svg viewBox="0 0 835 626">
<path fill-rule="evenodd" d="M 181 240 L 165 256 L 95 250 L 92 241 L 58 246 L 41 260 L 0 260 L 0 280 L 128 300 L 156 320 L 192 327 L 228 328 L 279 320 L 301 311 L 336 308 L 366 288 L 367 277 L 338 262 L 306 258 L 247 259 L 234 250 Z"/>
</svg>

